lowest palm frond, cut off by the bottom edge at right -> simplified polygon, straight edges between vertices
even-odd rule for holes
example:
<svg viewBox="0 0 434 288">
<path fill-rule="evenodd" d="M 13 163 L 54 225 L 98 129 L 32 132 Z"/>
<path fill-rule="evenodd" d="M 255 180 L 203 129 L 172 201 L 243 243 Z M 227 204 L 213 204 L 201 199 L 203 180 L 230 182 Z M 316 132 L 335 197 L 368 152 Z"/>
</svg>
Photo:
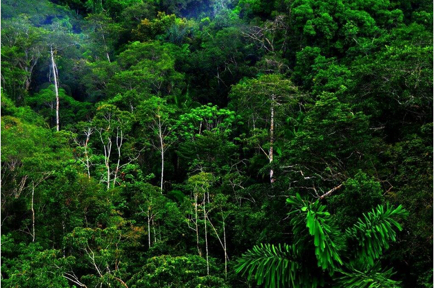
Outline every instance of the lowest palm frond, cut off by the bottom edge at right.
<svg viewBox="0 0 434 288">
<path fill-rule="evenodd" d="M 367 271 L 352 269 L 350 272 L 340 271 L 342 276 L 335 278 L 336 287 L 342 288 L 396 288 L 400 282 L 391 280 L 395 273 L 392 269 L 381 271 L 380 263 Z"/>
</svg>

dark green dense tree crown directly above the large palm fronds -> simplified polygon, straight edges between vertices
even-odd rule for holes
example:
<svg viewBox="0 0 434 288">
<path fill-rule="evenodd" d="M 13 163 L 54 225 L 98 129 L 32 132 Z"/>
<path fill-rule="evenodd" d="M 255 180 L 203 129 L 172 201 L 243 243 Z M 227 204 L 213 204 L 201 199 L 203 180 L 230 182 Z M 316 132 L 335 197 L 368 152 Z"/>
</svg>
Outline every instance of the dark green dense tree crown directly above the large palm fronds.
<svg viewBox="0 0 434 288">
<path fill-rule="evenodd" d="M 359 169 L 375 173 L 373 151 L 382 147 L 375 147 L 379 140 L 369 128 L 369 117 L 355 112 L 338 96 L 322 93 L 304 116 L 298 132 L 285 143 L 279 173 L 292 175 L 291 189 L 324 198 L 340 189 L 342 182 Z M 360 161 L 362 158 L 365 161 Z"/>
</svg>

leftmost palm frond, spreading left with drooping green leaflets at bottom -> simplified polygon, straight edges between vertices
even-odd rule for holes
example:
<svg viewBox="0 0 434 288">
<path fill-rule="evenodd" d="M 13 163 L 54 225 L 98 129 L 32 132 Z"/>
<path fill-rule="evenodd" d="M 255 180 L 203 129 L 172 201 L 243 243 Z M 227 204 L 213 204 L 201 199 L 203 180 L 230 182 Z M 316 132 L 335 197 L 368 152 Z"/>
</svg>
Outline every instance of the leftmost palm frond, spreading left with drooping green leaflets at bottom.
<svg viewBox="0 0 434 288">
<path fill-rule="evenodd" d="M 242 254 L 236 272 L 247 273 L 249 280 L 254 278 L 258 285 L 269 288 L 316 287 L 316 282 L 300 271 L 297 256 L 294 245 L 256 245 Z"/>
</svg>

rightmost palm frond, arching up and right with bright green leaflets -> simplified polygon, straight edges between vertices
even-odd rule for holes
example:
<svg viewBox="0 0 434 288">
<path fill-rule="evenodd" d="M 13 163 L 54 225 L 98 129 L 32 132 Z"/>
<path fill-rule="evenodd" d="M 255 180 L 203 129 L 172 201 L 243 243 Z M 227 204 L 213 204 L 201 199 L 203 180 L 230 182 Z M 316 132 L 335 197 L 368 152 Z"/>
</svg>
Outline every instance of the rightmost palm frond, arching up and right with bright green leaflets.
<svg viewBox="0 0 434 288">
<path fill-rule="evenodd" d="M 384 209 L 378 205 L 372 212 L 363 214 L 352 228 L 347 229 L 347 236 L 355 241 L 358 249 L 355 250 L 357 260 L 373 265 L 373 261 L 382 255 L 383 249 L 389 248 L 389 242 L 396 240 L 396 232 L 402 230 L 396 218 L 402 218 L 408 213 L 402 205 L 393 209 L 389 204 Z"/>
</svg>

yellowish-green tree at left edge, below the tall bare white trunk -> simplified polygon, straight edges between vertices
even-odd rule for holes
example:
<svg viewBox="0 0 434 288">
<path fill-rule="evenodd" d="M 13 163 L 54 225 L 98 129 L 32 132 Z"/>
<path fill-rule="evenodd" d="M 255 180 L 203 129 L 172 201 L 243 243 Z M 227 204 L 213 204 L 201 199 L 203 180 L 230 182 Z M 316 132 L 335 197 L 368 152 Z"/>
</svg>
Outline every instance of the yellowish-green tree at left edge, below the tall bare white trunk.
<svg viewBox="0 0 434 288">
<path fill-rule="evenodd" d="M 6 104 L 6 99 L 3 94 L 2 104 Z M 41 125 L 43 122 L 32 110 L 6 106 L 3 109 L 10 110 L 12 115 L 1 116 L 1 213 L 3 220 L 12 224 L 10 229 L 29 234 L 34 242 L 36 223 L 42 218 L 37 212 L 44 194 L 43 184 L 71 156 L 70 150 L 65 138 Z M 17 118 L 23 112 L 32 122 Z M 21 208 L 14 209 L 15 205 Z"/>
</svg>

